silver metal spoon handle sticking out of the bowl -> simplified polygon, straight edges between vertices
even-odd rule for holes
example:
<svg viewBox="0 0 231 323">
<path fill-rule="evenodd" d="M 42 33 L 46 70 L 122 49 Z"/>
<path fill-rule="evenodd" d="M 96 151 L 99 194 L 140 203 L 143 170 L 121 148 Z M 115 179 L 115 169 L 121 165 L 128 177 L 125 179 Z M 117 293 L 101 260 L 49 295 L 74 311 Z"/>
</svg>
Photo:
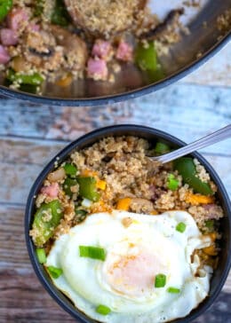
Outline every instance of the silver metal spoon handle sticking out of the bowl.
<svg viewBox="0 0 231 323">
<path fill-rule="evenodd" d="M 163 154 L 161 156 L 150 157 L 150 158 L 153 161 L 162 162 L 164 164 L 165 162 L 174 161 L 179 157 L 195 152 L 195 150 L 198 150 L 205 146 L 216 144 L 217 142 L 227 138 L 231 138 L 231 124 L 229 124 L 225 128 L 221 128 L 220 130 L 212 132 L 210 135 L 205 136 L 199 140 L 196 140 L 193 143 L 188 144 L 187 146 L 183 146 L 177 150 L 174 150 L 171 153 Z"/>
</svg>

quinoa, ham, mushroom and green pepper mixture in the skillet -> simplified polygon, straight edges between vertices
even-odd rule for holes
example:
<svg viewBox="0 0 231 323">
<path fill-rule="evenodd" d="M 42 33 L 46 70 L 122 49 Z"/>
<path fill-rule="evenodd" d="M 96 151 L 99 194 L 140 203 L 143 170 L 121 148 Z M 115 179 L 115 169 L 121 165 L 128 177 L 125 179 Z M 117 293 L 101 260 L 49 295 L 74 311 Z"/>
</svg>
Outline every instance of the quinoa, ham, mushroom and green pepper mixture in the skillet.
<svg viewBox="0 0 231 323">
<path fill-rule="evenodd" d="M 4 84 L 41 93 L 48 81 L 68 87 L 76 79 L 114 82 L 123 64 L 163 77 L 157 48 L 179 41 L 179 16 L 166 20 L 144 0 L 3 0 L 0 66 Z"/>
</svg>

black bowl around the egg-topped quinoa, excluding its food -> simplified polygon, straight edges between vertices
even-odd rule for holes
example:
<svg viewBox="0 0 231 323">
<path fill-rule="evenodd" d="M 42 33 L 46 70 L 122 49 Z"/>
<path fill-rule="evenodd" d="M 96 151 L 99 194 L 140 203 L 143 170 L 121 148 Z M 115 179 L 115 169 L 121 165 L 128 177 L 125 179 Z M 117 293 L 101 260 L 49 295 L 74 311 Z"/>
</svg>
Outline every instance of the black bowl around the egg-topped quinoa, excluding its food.
<svg viewBox="0 0 231 323">
<path fill-rule="evenodd" d="M 49 172 L 52 171 L 54 162 L 63 162 L 74 149 L 83 149 L 86 146 L 91 146 L 94 142 L 100 140 L 101 138 L 123 135 L 146 138 L 148 141 L 162 140 L 163 142 L 166 142 L 167 144 L 170 144 L 175 148 L 186 145 L 183 141 L 171 136 L 168 133 L 140 125 L 123 124 L 94 130 L 84 135 L 83 137 L 76 139 L 76 141 L 72 142 L 70 145 L 64 148 L 60 152 L 60 154 L 57 154 L 52 159 L 52 161 L 48 163 L 41 174 L 36 178 L 36 182 L 32 186 L 31 191 L 28 195 L 28 203 L 25 215 L 25 234 L 30 261 L 33 264 L 38 279 L 41 281 L 48 293 L 52 295 L 52 298 L 57 303 L 59 303 L 65 311 L 68 311 L 69 314 L 71 314 L 75 319 L 78 319 L 80 322 L 90 323 L 95 322 L 95 320 L 89 319 L 86 315 L 84 315 L 83 312 L 78 311 L 73 303 L 71 303 L 65 295 L 63 295 L 57 288 L 55 288 L 55 286 L 52 284 L 52 280 L 48 276 L 47 272 L 45 272 L 43 265 L 39 264 L 37 261 L 36 248 L 31 238 L 29 237 L 29 230 L 31 228 L 32 220 L 35 214 L 34 196 L 40 191 L 45 177 L 49 174 Z M 225 211 L 225 217 L 220 221 L 223 238 L 221 240 L 219 266 L 211 278 L 211 290 L 209 296 L 203 301 L 203 303 L 199 304 L 199 306 L 195 310 L 188 314 L 186 318 L 175 319 L 174 321 L 172 321 L 172 323 L 191 322 L 193 319 L 197 318 L 204 311 L 206 311 L 211 306 L 211 303 L 213 303 L 219 295 L 219 292 L 227 279 L 227 274 L 231 266 L 231 204 L 226 189 L 222 184 L 218 174 L 211 167 L 209 162 L 207 162 L 200 154 L 194 153 L 191 155 L 202 163 L 205 169 L 207 169 L 207 171 L 210 173 L 213 182 L 218 186 L 219 201 Z"/>
</svg>

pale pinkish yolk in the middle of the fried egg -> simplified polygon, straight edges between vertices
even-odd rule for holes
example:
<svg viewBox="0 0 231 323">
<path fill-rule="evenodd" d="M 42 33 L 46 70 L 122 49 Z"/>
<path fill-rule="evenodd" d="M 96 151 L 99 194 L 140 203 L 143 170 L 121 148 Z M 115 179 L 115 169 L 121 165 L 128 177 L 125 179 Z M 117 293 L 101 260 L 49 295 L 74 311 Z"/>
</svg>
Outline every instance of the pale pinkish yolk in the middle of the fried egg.
<svg viewBox="0 0 231 323">
<path fill-rule="evenodd" d="M 137 248 L 136 248 L 137 249 Z M 147 249 L 128 255 L 114 255 L 108 265 L 108 284 L 117 293 L 128 296 L 153 294 L 155 275 L 167 272 L 160 255 Z"/>
</svg>

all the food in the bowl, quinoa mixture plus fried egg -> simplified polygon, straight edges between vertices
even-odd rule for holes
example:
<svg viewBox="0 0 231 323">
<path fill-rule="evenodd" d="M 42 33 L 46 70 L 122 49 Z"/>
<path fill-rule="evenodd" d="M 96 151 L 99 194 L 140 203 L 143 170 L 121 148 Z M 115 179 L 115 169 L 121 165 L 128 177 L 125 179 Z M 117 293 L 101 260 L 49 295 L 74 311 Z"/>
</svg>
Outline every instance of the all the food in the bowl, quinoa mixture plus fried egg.
<svg viewBox="0 0 231 323">
<path fill-rule="evenodd" d="M 76 308 L 101 322 L 167 322 L 208 295 L 219 260 L 216 186 L 170 147 L 104 138 L 55 164 L 36 196 L 38 261 Z"/>
</svg>

